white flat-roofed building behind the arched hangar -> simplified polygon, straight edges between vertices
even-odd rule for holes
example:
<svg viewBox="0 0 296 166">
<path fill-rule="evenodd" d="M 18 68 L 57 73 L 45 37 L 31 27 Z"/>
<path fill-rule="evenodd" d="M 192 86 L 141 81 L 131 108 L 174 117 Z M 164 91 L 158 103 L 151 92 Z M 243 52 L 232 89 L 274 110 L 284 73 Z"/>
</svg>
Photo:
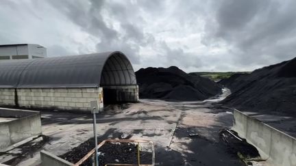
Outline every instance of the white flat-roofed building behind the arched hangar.
<svg viewBox="0 0 296 166">
<path fill-rule="evenodd" d="M 0 45 L 0 60 L 47 57 L 47 49 L 39 44 Z"/>
</svg>

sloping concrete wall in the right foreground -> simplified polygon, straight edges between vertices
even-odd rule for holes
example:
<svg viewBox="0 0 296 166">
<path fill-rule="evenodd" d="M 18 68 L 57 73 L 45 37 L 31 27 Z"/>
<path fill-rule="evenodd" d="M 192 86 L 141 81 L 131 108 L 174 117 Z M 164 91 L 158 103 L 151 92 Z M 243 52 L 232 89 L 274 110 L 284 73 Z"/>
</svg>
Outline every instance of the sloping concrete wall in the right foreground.
<svg viewBox="0 0 296 166">
<path fill-rule="evenodd" d="M 240 137 L 255 146 L 262 159 L 279 166 L 296 166 L 296 139 L 234 109 L 234 126 Z"/>
</svg>

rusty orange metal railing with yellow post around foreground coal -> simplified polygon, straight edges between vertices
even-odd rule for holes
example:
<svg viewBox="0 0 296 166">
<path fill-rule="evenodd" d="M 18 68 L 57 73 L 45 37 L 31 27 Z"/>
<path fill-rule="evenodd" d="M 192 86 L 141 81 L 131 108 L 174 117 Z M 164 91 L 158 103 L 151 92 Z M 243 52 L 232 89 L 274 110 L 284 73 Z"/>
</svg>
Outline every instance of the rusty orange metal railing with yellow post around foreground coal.
<svg viewBox="0 0 296 166">
<path fill-rule="evenodd" d="M 155 151 L 154 151 L 154 143 L 153 141 L 146 141 L 146 140 L 131 140 L 131 139 L 106 139 L 104 141 L 101 141 L 101 143 L 99 143 L 99 145 L 97 146 L 97 148 L 101 148 L 101 146 L 103 146 L 105 143 L 138 143 L 138 152 L 137 152 L 137 158 L 138 158 L 138 166 L 153 166 L 155 165 Z M 151 148 L 151 153 L 152 153 L 152 158 L 151 158 L 151 165 L 142 165 L 140 164 L 140 143 L 151 143 L 152 144 L 152 148 Z M 93 156 L 93 154 L 95 153 L 95 148 L 93 148 L 93 150 L 90 150 L 90 152 L 88 152 L 88 154 L 86 154 L 82 159 L 80 159 L 77 163 L 75 163 L 75 166 L 79 166 L 82 163 L 84 163 L 84 161 L 86 161 L 88 158 L 90 158 L 91 156 Z M 116 166 L 116 165 L 123 165 L 123 166 L 133 166 L 134 164 L 118 164 L 118 163 L 108 163 L 105 166 Z M 137 165 L 135 165 L 137 166 Z"/>
</svg>

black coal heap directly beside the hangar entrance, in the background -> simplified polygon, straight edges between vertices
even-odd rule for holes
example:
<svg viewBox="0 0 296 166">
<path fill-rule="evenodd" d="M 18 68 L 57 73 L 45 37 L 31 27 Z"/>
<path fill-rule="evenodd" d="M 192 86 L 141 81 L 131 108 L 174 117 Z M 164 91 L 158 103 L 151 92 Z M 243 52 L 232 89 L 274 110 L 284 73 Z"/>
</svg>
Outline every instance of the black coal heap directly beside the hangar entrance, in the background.
<svg viewBox="0 0 296 166">
<path fill-rule="evenodd" d="M 140 98 L 205 100 L 221 93 L 221 86 L 208 78 L 190 75 L 175 66 L 141 68 L 136 72 Z"/>
</svg>

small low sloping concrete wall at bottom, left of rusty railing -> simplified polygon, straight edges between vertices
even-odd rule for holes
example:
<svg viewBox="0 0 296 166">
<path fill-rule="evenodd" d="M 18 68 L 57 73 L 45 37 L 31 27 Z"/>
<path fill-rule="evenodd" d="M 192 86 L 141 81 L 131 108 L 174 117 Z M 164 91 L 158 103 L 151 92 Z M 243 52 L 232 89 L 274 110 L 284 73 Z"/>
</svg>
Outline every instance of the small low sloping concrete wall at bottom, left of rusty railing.
<svg viewBox="0 0 296 166">
<path fill-rule="evenodd" d="M 71 166 L 74 165 L 69 161 L 65 161 L 64 159 L 53 155 L 45 150 L 40 151 L 41 165 L 42 166 Z"/>
</svg>

